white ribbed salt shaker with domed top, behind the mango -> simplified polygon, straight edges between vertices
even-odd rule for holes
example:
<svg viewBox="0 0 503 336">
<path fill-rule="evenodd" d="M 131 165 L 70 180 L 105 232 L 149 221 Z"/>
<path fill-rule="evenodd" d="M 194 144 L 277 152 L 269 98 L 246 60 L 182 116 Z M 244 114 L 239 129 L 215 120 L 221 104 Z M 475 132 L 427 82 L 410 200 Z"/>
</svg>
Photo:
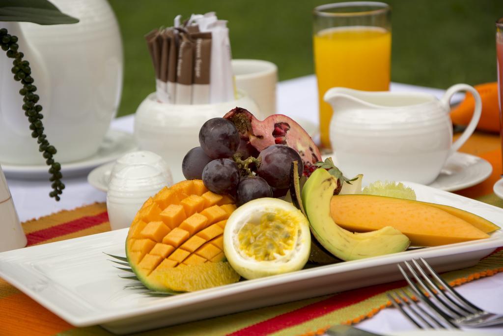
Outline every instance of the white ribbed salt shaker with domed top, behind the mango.
<svg viewBox="0 0 503 336">
<path fill-rule="evenodd" d="M 107 210 L 112 230 L 128 228 L 148 197 L 169 185 L 155 166 L 133 164 L 112 174 L 107 192 Z"/>
</svg>

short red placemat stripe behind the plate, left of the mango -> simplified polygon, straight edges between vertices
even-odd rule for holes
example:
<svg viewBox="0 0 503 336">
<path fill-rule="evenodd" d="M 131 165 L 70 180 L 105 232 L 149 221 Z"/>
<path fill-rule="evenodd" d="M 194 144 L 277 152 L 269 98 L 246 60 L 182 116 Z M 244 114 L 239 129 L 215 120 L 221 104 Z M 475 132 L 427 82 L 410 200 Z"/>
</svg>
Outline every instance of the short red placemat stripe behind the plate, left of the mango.
<svg viewBox="0 0 503 336">
<path fill-rule="evenodd" d="M 56 238 L 69 233 L 88 229 L 96 225 L 108 222 L 108 213 L 105 211 L 96 216 L 86 216 L 74 221 L 58 224 L 47 229 L 31 232 L 26 235 L 27 246 L 38 244 L 44 240 Z"/>
</svg>

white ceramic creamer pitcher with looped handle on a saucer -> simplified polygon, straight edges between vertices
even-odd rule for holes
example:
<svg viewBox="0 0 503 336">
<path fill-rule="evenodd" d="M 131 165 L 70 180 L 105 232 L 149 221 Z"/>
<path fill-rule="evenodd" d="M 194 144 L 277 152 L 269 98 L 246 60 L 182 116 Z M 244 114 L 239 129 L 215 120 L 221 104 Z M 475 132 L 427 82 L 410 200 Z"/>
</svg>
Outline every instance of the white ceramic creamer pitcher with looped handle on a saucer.
<svg viewBox="0 0 503 336">
<path fill-rule="evenodd" d="M 452 142 L 449 100 L 458 91 L 475 98 L 472 119 Z M 425 93 L 366 92 L 332 88 L 330 142 L 334 160 L 346 176 L 363 173 L 375 180 L 430 184 L 447 158 L 471 136 L 482 109 L 480 95 L 467 84 L 450 87 L 441 100 Z"/>
</svg>

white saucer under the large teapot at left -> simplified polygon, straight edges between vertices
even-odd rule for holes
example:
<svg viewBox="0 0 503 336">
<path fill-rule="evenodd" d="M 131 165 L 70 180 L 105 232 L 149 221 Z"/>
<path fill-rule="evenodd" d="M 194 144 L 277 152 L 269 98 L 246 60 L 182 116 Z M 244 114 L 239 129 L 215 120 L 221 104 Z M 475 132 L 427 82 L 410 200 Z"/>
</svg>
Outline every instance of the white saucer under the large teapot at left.
<svg viewBox="0 0 503 336">
<path fill-rule="evenodd" d="M 109 129 L 98 152 L 80 161 L 61 164 L 63 178 L 74 177 L 89 172 L 92 168 L 116 160 L 127 152 L 137 150 L 138 146 L 131 133 Z M 2 164 L 5 176 L 17 179 L 47 178 L 49 169 L 46 165 L 10 165 Z"/>
</svg>

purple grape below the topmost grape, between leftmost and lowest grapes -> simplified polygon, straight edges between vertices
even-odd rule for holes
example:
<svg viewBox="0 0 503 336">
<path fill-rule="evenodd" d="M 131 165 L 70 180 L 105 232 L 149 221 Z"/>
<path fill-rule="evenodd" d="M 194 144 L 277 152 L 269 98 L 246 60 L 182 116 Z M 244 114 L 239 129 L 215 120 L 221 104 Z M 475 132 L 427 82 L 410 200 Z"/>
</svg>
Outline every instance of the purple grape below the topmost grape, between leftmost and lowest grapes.
<svg viewBox="0 0 503 336">
<path fill-rule="evenodd" d="M 239 183 L 239 168 L 231 159 L 216 159 L 203 169 L 204 185 L 214 193 L 233 193 Z"/>
</svg>

